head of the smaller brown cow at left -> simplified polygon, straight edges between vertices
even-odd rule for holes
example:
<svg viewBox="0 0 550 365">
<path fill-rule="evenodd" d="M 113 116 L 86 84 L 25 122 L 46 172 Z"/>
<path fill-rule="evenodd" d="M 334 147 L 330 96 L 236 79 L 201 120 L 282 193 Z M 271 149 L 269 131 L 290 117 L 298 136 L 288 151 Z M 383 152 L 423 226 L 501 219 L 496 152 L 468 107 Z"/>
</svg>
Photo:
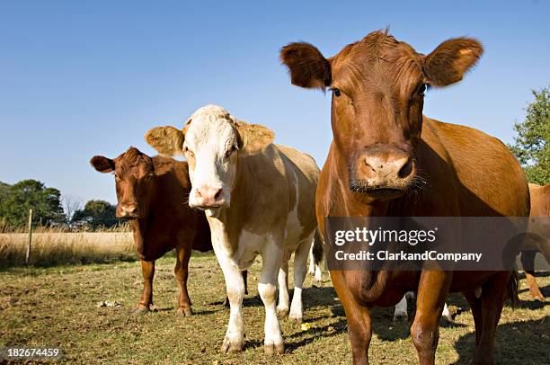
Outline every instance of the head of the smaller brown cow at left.
<svg viewBox="0 0 550 365">
<path fill-rule="evenodd" d="M 155 183 L 155 167 L 149 156 L 130 147 L 114 160 L 93 156 L 90 164 L 100 173 L 114 173 L 118 200 L 117 218 L 146 218 Z"/>
</svg>

